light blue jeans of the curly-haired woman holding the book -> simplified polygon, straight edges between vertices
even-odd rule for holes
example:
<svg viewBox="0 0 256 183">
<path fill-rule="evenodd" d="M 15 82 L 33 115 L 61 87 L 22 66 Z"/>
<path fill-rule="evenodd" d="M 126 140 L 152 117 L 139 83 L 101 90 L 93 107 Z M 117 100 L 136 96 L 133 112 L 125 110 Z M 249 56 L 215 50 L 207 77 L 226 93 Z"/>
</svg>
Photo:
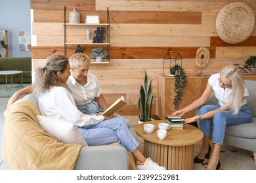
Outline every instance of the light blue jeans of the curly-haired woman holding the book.
<svg viewBox="0 0 256 183">
<path fill-rule="evenodd" d="M 139 146 L 121 117 L 111 118 L 96 125 L 78 127 L 78 129 L 89 146 L 119 142 L 129 152 L 134 152 Z"/>
</svg>

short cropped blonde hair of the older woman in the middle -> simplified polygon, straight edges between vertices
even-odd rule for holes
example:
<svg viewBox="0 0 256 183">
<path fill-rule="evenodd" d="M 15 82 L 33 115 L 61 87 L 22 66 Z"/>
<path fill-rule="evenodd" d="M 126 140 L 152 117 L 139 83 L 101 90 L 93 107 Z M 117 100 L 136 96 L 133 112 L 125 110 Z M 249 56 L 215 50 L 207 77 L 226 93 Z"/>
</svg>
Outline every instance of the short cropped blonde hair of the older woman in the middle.
<svg viewBox="0 0 256 183">
<path fill-rule="evenodd" d="M 71 68 L 78 68 L 81 65 L 89 65 L 91 63 L 91 60 L 89 58 L 89 56 L 85 55 L 85 54 L 73 54 L 70 57 L 70 67 Z"/>
</svg>

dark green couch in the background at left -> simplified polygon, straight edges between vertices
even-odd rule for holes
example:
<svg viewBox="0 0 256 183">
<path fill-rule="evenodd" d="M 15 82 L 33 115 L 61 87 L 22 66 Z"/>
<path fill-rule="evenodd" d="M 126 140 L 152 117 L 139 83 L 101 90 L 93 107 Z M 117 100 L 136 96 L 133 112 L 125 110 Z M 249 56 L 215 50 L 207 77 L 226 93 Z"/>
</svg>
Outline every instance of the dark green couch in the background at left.
<svg viewBox="0 0 256 183">
<path fill-rule="evenodd" d="M 32 58 L 0 58 L 0 71 L 23 71 L 23 83 L 32 83 Z M 7 75 L 11 83 L 11 75 Z M 12 75 L 12 83 L 21 83 L 21 75 Z M 5 75 L 0 75 L 0 83 L 5 83 Z"/>
</svg>

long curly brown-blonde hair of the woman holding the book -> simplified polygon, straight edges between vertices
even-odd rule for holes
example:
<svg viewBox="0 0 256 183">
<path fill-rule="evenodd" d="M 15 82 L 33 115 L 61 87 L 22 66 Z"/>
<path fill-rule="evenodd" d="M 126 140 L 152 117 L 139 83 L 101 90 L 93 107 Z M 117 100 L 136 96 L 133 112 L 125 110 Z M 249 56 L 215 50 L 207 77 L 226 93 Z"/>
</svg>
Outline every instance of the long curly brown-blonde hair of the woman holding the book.
<svg viewBox="0 0 256 183">
<path fill-rule="evenodd" d="M 39 97 L 42 93 L 49 91 L 53 86 L 66 86 L 60 78 L 58 78 L 57 73 L 60 71 L 64 73 L 67 68 L 68 59 L 66 56 L 53 55 L 46 59 L 47 63 L 45 66 L 39 67 L 35 71 L 35 82 L 33 84 L 33 93 L 36 97 Z"/>
</svg>

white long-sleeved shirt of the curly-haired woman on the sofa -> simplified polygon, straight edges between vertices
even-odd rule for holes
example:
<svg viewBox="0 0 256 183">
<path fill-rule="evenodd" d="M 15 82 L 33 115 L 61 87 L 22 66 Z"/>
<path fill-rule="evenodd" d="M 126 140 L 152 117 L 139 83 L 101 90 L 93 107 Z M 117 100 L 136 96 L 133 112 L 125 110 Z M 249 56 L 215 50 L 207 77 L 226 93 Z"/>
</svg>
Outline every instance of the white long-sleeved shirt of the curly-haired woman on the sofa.
<svg viewBox="0 0 256 183">
<path fill-rule="evenodd" d="M 40 95 L 38 104 L 43 116 L 72 122 L 77 126 L 98 124 L 104 120 L 103 116 L 80 112 L 70 92 L 61 86 L 54 86 L 49 92 Z"/>
</svg>

